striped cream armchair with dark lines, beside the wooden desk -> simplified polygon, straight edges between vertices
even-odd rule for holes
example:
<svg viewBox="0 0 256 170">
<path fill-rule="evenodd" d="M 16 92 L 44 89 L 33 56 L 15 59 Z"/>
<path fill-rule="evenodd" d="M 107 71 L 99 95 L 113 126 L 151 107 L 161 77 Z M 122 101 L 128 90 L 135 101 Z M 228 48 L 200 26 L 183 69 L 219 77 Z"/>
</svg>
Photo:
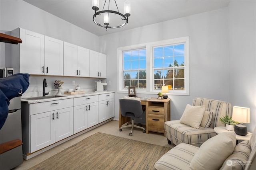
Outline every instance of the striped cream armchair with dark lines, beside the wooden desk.
<svg viewBox="0 0 256 170">
<path fill-rule="evenodd" d="M 206 106 L 206 111 L 212 112 L 212 123 L 210 127 L 199 127 L 195 129 L 188 125 L 180 123 L 180 120 L 171 120 L 164 123 L 165 135 L 168 143 L 178 145 L 180 143 L 190 144 L 200 147 L 202 143 L 214 137 L 214 127 L 224 126 L 221 123 L 220 117 L 231 114 L 231 104 L 218 100 L 194 98 L 192 106 Z"/>
</svg>

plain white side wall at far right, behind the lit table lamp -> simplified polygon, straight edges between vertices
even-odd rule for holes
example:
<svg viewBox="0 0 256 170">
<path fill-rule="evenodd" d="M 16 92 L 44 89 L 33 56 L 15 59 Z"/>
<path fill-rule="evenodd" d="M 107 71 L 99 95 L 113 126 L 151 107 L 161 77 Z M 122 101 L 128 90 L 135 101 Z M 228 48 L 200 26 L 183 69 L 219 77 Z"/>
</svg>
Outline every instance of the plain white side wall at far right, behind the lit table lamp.
<svg viewBox="0 0 256 170">
<path fill-rule="evenodd" d="M 229 5 L 230 102 L 250 108 L 248 131 L 256 126 L 256 1 Z"/>
</svg>

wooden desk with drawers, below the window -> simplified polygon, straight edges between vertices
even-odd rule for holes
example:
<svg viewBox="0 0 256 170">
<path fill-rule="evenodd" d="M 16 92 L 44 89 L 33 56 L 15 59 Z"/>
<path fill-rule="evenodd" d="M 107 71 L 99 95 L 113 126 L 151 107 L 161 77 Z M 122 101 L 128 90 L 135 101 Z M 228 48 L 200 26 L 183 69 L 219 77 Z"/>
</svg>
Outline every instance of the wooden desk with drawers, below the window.
<svg viewBox="0 0 256 170">
<path fill-rule="evenodd" d="M 149 131 L 164 133 L 164 122 L 169 121 L 171 117 L 170 100 L 170 98 L 141 100 L 141 105 L 146 109 L 146 133 Z M 130 117 L 122 116 L 119 109 L 119 128 L 126 122 L 130 122 Z"/>
</svg>

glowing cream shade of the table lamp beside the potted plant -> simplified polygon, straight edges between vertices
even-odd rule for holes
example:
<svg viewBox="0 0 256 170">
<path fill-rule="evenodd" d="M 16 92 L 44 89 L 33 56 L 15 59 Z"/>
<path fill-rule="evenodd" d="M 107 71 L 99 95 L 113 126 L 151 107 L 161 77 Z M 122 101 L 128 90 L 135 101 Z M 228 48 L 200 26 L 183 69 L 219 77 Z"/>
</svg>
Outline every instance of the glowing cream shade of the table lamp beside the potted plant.
<svg viewBox="0 0 256 170">
<path fill-rule="evenodd" d="M 250 123 L 250 108 L 234 106 L 232 120 L 241 123 Z"/>
</svg>

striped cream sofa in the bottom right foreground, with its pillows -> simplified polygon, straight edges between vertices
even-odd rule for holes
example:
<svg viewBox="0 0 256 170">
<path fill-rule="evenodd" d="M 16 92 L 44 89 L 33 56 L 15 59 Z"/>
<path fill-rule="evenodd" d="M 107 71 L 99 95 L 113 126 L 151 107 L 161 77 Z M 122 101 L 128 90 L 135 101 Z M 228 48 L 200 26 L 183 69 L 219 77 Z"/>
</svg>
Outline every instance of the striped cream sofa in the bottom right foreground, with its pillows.
<svg viewBox="0 0 256 170">
<path fill-rule="evenodd" d="M 255 170 L 256 128 L 250 140 L 236 145 L 234 131 L 220 133 L 202 146 L 181 143 L 164 154 L 156 170 Z"/>
</svg>

